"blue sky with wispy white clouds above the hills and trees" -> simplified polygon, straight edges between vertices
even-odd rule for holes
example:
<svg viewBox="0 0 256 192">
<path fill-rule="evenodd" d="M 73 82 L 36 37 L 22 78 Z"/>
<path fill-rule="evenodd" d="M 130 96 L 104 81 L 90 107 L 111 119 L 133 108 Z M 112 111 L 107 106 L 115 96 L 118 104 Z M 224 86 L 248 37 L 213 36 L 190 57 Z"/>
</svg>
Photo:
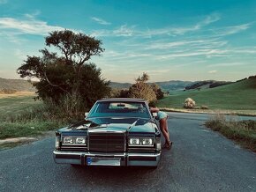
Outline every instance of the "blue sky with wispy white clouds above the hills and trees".
<svg viewBox="0 0 256 192">
<path fill-rule="evenodd" d="M 235 81 L 256 74 L 256 0 L 0 0 L 0 78 L 69 29 L 102 41 L 102 78 Z"/>
</svg>

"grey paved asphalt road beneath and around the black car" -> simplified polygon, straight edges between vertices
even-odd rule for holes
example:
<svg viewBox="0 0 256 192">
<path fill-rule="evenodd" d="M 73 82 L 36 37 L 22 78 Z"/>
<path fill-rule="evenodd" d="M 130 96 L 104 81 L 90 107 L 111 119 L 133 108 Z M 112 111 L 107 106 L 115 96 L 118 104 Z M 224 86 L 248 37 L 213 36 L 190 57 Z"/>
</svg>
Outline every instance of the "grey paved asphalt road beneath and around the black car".
<svg viewBox="0 0 256 192">
<path fill-rule="evenodd" d="M 49 137 L 0 151 L 0 191 L 256 191 L 255 153 L 206 129 L 206 114 L 169 116 L 173 148 L 155 170 L 56 165 Z"/>
</svg>

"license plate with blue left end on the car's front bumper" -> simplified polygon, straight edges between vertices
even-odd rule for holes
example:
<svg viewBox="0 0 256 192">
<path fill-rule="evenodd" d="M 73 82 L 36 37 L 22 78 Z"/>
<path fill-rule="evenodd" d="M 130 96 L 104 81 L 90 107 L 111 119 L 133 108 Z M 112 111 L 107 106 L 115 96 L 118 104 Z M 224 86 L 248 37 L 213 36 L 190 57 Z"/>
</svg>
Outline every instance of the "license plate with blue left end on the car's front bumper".
<svg viewBox="0 0 256 192">
<path fill-rule="evenodd" d="M 87 157 L 87 166 L 120 166 L 120 158 Z"/>
</svg>

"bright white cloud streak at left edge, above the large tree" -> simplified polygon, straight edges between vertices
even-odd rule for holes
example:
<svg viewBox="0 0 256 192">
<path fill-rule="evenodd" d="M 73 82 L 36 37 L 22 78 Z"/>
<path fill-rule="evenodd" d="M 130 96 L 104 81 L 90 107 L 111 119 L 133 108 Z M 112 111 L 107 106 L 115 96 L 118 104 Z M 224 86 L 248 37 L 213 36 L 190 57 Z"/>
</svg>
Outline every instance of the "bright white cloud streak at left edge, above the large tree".
<svg viewBox="0 0 256 192">
<path fill-rule="evenodd" d="M 15 33 L 39 34 L 45 35 L 51 31 L 63 30 L 61 26 L 49 26 L 47 22 L 36 20 L 30 15 L 28 19 L 18 18 L 0 18 L 1 30 L 14 30 Z"/>
</svg>

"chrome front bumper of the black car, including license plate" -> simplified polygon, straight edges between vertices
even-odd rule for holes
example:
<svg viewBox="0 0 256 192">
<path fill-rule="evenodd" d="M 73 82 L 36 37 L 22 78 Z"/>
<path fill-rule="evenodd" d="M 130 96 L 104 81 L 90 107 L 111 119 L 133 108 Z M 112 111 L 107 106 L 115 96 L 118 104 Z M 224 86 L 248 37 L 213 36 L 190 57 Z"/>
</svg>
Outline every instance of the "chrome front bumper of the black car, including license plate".
<svg viewBox="0 0 256 192">
<path fill-rule="evenodd" d="M 161 151 L 104 153 L 89 151 L 53 151 L 56 163 L 81 166 L 157 166 Z"/>
</svg>

